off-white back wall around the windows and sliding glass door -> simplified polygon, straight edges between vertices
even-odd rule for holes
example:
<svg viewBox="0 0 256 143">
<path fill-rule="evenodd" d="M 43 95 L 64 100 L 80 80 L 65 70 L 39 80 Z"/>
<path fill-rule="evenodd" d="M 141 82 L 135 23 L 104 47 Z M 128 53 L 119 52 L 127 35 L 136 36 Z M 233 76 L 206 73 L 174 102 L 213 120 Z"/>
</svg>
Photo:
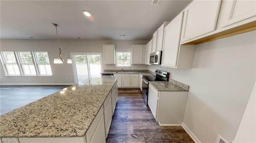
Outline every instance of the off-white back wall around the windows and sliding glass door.
<svg viewBox="0 0 256 143">
<path fill-rule="evenodd" d="M 103 44 L 114 44 L 116 51 L 130 51 L 132 44 L 146 44 L 148 41 L 98 41 L 98 40 L 60 40 L 64 57 L 70 57 L 70 53 L 102 53 Z M 52 67 L 52 76 L 4 76 L 2 65 L 0 66 L 1 84 L 72 84 L 74 74 L 71 64 L 53 64 L 54 57 L 58 57 L 57 40 L 1 40 L 0 51 L 47 51 Z M 103 55 L 103 54 L 102 54 Z M 103 58 L 102 58 L 103 59 Z M 110 68 L 109 68 L 110 66 Z M 115 65 L 103 65 L 104 69 L 120 69 Z M 136 68 L 135 68 L 136 67 Z M 126 69 L 147 70 L 148 65 L 132 65 Z M 67 78 L 67 79 L 66 79 Z"/>
</svg>

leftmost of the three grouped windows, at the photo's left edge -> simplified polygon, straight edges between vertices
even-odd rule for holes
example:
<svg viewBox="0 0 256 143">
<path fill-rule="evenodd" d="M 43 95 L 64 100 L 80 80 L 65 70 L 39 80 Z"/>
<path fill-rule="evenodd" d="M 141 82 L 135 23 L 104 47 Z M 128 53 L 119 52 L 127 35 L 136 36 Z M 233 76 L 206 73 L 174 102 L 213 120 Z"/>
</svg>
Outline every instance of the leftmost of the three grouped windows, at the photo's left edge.
<svg viewBox="0 0 256 143">
<path fill-rule="evenodd" d="M 7 75 L 20 75 L 20 69 L 17 64 L 14 52 L 1 52 L 2 64 L 4 65 Z"/>
</svg>

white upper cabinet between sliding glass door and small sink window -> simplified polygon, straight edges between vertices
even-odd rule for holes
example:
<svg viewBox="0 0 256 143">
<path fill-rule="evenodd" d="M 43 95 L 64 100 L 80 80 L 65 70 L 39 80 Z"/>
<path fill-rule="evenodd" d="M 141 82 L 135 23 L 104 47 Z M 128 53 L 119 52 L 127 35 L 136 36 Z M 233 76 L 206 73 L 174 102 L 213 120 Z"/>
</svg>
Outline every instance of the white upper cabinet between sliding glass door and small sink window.
<svg viewBox="0 0 256 143">
<path fill-rule="evenodd" d="M 103 55 L 105 64 L 116 64 L 115 45 L 103 45 Z"/>
</svg>

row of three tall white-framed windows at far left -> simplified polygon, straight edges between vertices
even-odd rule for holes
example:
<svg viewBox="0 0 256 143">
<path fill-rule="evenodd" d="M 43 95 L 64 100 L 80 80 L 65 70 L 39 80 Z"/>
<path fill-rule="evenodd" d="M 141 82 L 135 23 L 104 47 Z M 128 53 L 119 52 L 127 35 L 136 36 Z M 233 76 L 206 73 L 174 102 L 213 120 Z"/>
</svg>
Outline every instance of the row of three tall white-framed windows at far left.
<svg viewBox="0 0 256 143">
<path fill-rule="evenodd" d="M 52 75 L 47 52 L 1 52 L 6 75 Z"/>
</svg>

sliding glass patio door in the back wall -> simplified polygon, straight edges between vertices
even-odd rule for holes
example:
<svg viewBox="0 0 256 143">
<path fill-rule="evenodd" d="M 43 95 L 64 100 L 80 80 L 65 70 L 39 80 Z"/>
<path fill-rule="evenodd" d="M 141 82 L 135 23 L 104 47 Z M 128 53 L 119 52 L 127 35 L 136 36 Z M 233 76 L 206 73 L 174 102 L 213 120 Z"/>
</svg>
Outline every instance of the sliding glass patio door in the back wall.
<svg viewBox="0 0 256 143">
<path fill-rule="evenodd" d="M 101 77 L 101 53 L 71 53 L 74 64 L 75 82 L 85 84 L 88 78 Z"/>
</svg>

